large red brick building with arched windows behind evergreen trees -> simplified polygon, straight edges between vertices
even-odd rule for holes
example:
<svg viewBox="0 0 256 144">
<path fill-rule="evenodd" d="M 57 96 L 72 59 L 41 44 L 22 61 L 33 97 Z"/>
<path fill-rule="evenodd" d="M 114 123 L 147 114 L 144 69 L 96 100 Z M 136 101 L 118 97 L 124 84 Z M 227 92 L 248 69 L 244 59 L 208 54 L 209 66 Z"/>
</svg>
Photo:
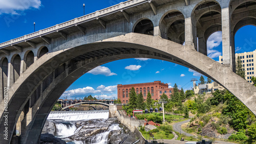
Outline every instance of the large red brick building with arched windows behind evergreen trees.
<svg viewBox="0 0 256 144">
<path fill-rule="evenodd" d="M 121 100 L 122 104 L 129 102 L 129 92 L 131 88 L 135 88 L 135 92 L 139 94 L 142 92 L 144 100 L 146 100 L 146 95 L 148 91 L 151 93 L 151 97 L 154 100 L 160 99 L 160 89 L 163 89 L 162 91 L 166 90 L 166 94 L 169 97 L 169 92 L 173 91 L 173 88 L 168 88 L 168 84 L 162 83 L 161 81 L 154 81 L 151 83 L 139 83 L 139 84 L 118 84 L 117 85 L 117 98 Z M 168 90 L 167 90 L 168 89 Z M 168 92 L 167 92 L 168 91 Z"/>
</svg>

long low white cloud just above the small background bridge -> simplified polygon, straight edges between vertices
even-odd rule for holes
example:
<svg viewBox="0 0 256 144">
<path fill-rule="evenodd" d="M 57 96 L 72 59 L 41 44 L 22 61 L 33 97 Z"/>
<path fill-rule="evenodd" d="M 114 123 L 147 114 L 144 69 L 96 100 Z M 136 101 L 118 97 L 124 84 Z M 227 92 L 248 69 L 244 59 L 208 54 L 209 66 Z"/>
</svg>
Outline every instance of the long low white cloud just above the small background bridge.
<svg viewBox="0 0 256 144">
<path fill-rule="evenodd" d="M 92 94 L 92 93 L 98 93 L 100 90 L 95 90 L 94 88 L 87 86 L 84 88 L 77 88 L 72 90 L 65 91 L 61 96 L 62 97 L 72 97 L 73 95 L 82 95 L 82 94 Z"/>
</svg>

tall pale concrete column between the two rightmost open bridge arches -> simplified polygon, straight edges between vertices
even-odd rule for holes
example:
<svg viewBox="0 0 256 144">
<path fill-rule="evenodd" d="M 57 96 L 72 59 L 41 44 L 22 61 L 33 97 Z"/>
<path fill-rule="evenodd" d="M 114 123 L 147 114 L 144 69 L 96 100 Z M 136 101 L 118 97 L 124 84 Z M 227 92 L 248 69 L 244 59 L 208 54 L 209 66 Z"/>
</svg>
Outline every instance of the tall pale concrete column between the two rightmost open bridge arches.
<svg viewBox="0 0 256 144">
<path fill-rule="evenodd" d="M 230 44 L 230 20 L 229 20 L 229 8 L 221 10 L 222 18 L 222 55 L 223 65 L 232 68 L 232 51 Z"/>
</svg>

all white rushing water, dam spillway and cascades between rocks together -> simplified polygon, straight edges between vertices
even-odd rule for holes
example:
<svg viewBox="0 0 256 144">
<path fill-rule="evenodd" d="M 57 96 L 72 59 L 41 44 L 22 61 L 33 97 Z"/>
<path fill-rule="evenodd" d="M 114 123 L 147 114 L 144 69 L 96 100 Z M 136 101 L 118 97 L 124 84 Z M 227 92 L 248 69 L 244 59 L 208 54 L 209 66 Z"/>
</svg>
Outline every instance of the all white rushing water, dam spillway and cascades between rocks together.
<svg viewBox="0 0 256 144">
<path fill-rule="evenodd" d="M 48 120 L 55 124 L 56 137 L 68 140 L 67 143 L 82 144 L 83 141 L 70 141 L 68 138 L 80 131 L 83 126 L 76 127 L 78 121 L 89 121 L 90 119 L 108 119 L 109 111 L 65 111 L 65 112 L 51 112 Z M 98 122 L 98 121 L 95 121 Z M 105 120 L 103 121 L 105 122 Z M 98 124 L 98 123 L 95 123 Z M 98 124 L 99 125 L 99 124 Z M 100 125 L 99 125 L 100 126 Z M 97 133 L 90 137 L 90 143 L 107 143 L 108 135 L 112 130 L 120 130 L 119 124 L 111 124 L 107 130 L 102 133 Z"/>
</svg>

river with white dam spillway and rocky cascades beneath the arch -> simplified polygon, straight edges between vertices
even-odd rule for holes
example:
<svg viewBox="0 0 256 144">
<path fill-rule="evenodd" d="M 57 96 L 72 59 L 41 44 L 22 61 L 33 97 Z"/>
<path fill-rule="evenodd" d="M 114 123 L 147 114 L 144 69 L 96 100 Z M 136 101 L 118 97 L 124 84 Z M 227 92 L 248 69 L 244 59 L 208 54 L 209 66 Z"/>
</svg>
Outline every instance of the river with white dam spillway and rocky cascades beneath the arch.
<svg viewBox="0 0 256 144">
<path fill-rule="evenodd" d="M 129 130 L 123 128 L 117 118 L 109 118 L 108 110 L 51 112 L 42 130 L 67 143 L 79 144 L 111 143 L 110 137 L 115 132 L 121 137 Z"/>
</svg>

